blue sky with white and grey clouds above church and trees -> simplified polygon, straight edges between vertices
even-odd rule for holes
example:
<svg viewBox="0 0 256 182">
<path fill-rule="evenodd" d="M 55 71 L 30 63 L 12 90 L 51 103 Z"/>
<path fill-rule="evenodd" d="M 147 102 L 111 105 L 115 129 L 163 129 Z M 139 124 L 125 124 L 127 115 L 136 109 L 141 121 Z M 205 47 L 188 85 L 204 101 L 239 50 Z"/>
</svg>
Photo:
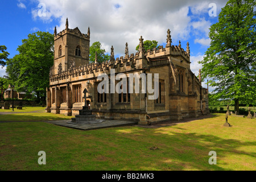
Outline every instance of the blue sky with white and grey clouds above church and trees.
<svg viewBox="0 0 256 182">
<path fill-rule="evenodd" d="M 7 47 L 11 58 L 28 34 L 53 34 L 55 26 L 60 32 L 68 18 L 69 28 L 79 27 L 86 34 L 90 27 L 90 44 L 99 41 L 106 52 L 113 46 L 115 57 L 119 57 L 124 55 L 126 42 L 129 53 L 135 53 L 141 35 L 144 40 L 156 40 L 165 47 L 170 28 L 172 45 L 178 45 L 180 40 L 181 47 L 186 49 L 189 42 L 191 70 L 198 75 L 201 65 L 197 61 L 203 59 L 210 43 L 208 28 L 218 20 L 217 16 L 209 16 L 209 11 L 213 12 L 210 3 L 216 5 L 218 15 L 226 1 L 2 0 L 0 45 Z M 3 75 L 5 68 L 0 68 L 0 76 Z"/>
</svg>

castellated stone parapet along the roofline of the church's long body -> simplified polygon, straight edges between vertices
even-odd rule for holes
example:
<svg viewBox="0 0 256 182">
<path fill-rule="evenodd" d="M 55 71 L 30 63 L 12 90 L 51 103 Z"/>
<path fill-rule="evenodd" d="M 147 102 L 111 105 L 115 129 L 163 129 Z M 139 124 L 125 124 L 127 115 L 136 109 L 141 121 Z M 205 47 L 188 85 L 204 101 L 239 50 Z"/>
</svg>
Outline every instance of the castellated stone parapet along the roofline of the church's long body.
<svg viewBox="0 0 256 182">
<path fill-rule="evenodd" d="M 69 30 L 64 30 L 69 31 Z M 64 32 L 65 34 L 65 32 Z M 59 35 L 59 34 L 58 34 Z M 56 36 L 58 38 L 58 35 Z M 59 35 L 59 37 L 61 34 Z M 87 34 L 85 35 L 88 38 Z M 56 39 L 57 39 L 56 38 Z M 161 56 L 173 56 L 173 57 L 182 57 L 183 60 L 189 65 L 191 62 L 189 61 L 189 55 L 184 51 L 183 48 L 178 46 L 171 46 L 167 48 L 163 48 L 163 46 L 159 46 L 159 49 L 148 49 L 144 56 L 147 58 L 147 61 L 142 61 L 139 59 L 139 52 L 131 53 L 130 55 L 126 55 L 125 57 L 117 57 L 112 63 L 110 60 L 105 61 L 103 63 L 88 63 L 85 65 L 80 65 L 79 67 L 69 68 L 67 71 L 61 71 L 59 74 L 50 75 L 49 79 L 51 82 L 57 80 L 64 80 L 69 77 L 79 77 L 85 75 L 87 78 L 92 78 L 95 75 L 100 75 L 100 73 L 108 73 L 110 69 L 115 69 L 116 73 L 129 72 L 134 71 L 135 69 L 147 68 L 150 66 L 150 58 L 161 57 Z M 73 60 L 75 61 L 75 60 Z M 133 65 L 133 66 L 132 66 Z M 135 69 L 134 69 L 135 68 Z M 92 75 L 90 75 L 92 74 Z M 86 76 L 87 75 L 87 76 Z"/>
</svg>

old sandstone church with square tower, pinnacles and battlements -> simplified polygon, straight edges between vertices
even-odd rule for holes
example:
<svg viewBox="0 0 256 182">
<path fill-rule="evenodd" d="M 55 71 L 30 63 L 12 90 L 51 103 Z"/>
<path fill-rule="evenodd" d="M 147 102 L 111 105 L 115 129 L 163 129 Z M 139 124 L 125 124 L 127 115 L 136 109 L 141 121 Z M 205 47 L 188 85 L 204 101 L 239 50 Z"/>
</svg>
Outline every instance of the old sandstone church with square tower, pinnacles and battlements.
<svg viewBox="0 0 256 182">
<path fill-rule="evenodd" d="M 90 30 L 82 34 L 77 27 L 70 29 L 67 19 L 65 30 L 57 34 L 55 27 L 54 31 L 54 63 L 49 71 L 46 111 L 77 115 L 87 104 L 97 118 L 137 121 L 141 125 L 208 114 L 208 89 L 201 86 L 200 73 L 197 77 L 190 69 L 189 44 L 186 51 L 180 43 L 173 46 L 170 33 L 168 30 L 165 48 L 144 50 L 141 36 L 137 53 L 129 54 L 126 43 L 124 56 L 115 59 L 112 46 L 109 61 L 98 63 L 96 56 L 94 63 L 89 63 Z M 127 78 L 129 73 L 158 73 L 158 98 L 149 100 L 148 92 L 98 93 L 98 76 L 110 76 L 110 69 Z M 141 79 L 139 82 L 142 89 Z M 84 98 L 85 88 L 88 93 Z"/>
</svg>

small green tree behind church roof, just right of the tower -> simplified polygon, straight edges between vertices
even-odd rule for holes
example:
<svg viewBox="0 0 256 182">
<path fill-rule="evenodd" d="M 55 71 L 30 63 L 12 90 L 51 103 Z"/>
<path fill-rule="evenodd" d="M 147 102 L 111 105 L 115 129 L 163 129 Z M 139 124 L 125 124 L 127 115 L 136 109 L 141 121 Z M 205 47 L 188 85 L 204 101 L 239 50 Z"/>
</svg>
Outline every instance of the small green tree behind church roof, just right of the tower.
<svg viewBox="0 0 256 182">
<path fill-rule="evenodd" d="M 92 46 L 90 46 L 90 55 L 89 55 L 90 62 L 95 61 L 96 52 L 97 52 L 98 63 L 102 63 L 104 61 L 110 60 L 110 56 L 108 54 L 105 54 L 106 53 L 105 49 L 101 48 L 101 43 L 94 42 Z"/>
</svg>

